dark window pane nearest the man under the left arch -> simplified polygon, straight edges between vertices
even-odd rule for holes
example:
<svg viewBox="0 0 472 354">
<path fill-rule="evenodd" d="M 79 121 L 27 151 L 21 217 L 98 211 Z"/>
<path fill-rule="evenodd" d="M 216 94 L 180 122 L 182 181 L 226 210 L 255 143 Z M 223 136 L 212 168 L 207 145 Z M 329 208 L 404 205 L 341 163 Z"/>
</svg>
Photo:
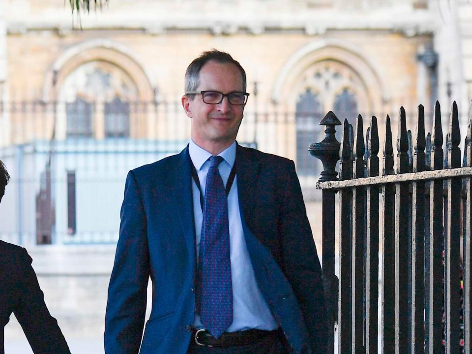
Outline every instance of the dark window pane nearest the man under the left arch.
<svg viewBox="0 0 472 354">
<path fill-rule="evenodd" d="M 105 136 L 129 136 L 129 102 L 122 102 L 119 97 L 105 103 Z"/>
</svg>

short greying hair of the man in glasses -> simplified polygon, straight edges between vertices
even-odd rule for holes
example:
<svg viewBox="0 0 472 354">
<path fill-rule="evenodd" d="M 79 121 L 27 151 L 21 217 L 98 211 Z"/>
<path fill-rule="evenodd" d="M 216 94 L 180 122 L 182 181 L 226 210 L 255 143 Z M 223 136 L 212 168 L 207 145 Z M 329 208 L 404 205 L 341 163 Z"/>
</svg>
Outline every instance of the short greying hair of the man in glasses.
<svg viewBox="0 0 472 354">
<path fill-rule="evenodd" d="M 242 90 L 246 91 L 246 72 L 242 68 L 241 64 L 234 60 L 233 57 L 228 53 L 213 49 L 203 52 L 200 57 L 194 59 L 194 61 L 188 65 L 187 71 L 185 72 L 185 92 L 197 91 L 197 88 L 200 85 L 200 70 L 202 70 L 202 67 L 209 61 L 214 61 L 221 64 L 229 63 L 236 65 L 236 67 L 241 72 Z M 189 96 L 193 97 L 193 95 Z"/>
</svg>

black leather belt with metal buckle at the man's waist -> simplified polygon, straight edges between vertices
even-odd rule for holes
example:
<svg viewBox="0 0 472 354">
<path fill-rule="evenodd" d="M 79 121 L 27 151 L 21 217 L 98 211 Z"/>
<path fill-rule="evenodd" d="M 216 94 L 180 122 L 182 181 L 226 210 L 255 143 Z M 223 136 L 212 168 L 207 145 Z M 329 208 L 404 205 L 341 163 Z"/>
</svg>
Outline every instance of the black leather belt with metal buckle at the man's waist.
<svg viewBox="0 0 472 354">
<path fill-rule="evenodd" d="M 226 332 L 218 339 L 213 337 L 206 329 L 194 329 L 192 336 L 195 343 L 199 346 L 205 347 L 230 347 L 230 346 L 245 346 L 257 343 L 258 341 L 268 336 L 279 336 L 280 329 L 273 331 L 264 331 L 261 329 L 248 329 L 239 332 Z"/>
</svg>

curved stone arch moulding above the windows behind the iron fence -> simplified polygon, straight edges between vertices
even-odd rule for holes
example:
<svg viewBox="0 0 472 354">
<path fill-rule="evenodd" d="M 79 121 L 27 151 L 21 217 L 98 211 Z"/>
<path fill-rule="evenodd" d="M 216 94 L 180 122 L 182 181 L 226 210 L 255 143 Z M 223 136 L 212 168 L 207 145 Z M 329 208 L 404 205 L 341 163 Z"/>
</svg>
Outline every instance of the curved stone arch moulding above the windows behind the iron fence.
<svg viewBox="0 0 472 354">
<path fill-rule="evenodd" d="M 337 39 L 318 40 L 298 49 L 284 64 L 274 83 L 272 101 L 293 109 L 296 86 L 304 72 L 323 62 L 339 63 L 352 70 L 366 89 L 367 100 L 363 110 L 383 112 L 390 94 L 375 64 L 350 44 Z"/>
</svg>

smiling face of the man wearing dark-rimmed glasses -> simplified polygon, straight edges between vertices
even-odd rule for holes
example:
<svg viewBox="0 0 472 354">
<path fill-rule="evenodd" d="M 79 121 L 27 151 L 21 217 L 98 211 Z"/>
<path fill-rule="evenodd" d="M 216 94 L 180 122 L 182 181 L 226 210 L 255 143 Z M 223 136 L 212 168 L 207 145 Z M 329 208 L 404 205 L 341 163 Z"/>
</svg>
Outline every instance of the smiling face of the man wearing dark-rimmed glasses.
<svg viewBox="0 0 472 354">
<path fill-rule="evenodd" d="M 234 64 L 209 61 L 200 70 L 200 84 L 195 91 L 242 92 L 241 72 Z M 193 141 L 203 147 L 230 145 L 235 139 L 243 117 L 244 105 L 232 105 L 228 97 L 219 104 L 207 104 L 202 95 L 182 97 L 185 113 L 191 118 Z M 207 149 L 208 150 L 208 149 Z"/>
</svg>

